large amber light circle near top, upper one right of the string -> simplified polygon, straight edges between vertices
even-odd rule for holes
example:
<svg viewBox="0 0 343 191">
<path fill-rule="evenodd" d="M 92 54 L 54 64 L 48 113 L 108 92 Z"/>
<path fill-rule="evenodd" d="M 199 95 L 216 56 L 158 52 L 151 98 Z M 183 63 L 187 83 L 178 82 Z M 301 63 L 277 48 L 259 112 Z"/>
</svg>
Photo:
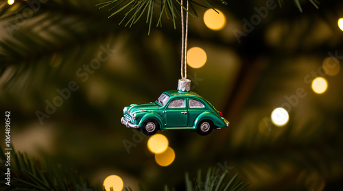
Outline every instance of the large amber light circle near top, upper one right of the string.
<svg viewBox="0 0 343 191">
<path fill-rule="evenodd" d="M 209 29 L 219 31 L 225 27 L 226 17 L 220 10 L 215 12 L 215 10 L 209 9 L 204 13 L 204 23 Z"/>
</svg>

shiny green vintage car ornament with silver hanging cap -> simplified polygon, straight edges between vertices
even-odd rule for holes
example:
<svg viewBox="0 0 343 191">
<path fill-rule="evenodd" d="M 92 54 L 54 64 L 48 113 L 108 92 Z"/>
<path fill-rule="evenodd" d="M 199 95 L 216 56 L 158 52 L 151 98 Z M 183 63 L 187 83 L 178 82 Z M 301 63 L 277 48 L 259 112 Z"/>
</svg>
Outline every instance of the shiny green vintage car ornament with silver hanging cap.
<svg viewBox="0 0 343 191">
<path fill-rule="evenodd" d="M 228 127 L 222 112 L 190 89 L 191 80 L 179 79 L 178 90 L 163 92 L 154 102 L 124 107 L 121 123 L 147 136 L 158 130 L 174 129 L 196 130 L 206 136 L 212 129 Z"/>
</svg>

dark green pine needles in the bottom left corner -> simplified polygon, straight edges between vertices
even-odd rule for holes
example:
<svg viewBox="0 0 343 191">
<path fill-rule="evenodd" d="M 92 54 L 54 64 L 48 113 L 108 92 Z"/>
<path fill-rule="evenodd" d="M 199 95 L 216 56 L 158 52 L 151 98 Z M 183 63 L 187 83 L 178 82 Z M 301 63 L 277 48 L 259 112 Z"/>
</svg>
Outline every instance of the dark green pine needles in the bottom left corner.
<svg viewBox="0 0 343 191">
<path fill-rule="evenodd" d="M 13 147 L 12 147 L 13 148 Z M 5 173 L 7 160 L 0 147 L 0 188 L 1 190 L 93 190 L 88 180 L 83 179 L 75 170 L 64 170 L 62 166 L 48 160 L 43 164 L 38 160 L 29 159 L 26 154 L 10 151 L 11 166 L 10 186 L 6 185 Z"/>
</svg>

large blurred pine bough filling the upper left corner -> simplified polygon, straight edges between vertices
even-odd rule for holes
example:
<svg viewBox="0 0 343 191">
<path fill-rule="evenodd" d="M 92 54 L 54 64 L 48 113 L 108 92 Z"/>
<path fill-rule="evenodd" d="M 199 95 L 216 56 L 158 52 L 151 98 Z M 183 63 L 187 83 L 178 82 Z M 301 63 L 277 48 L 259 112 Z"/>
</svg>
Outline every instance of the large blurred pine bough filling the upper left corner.
<svg viewBox="0 0 343 191">
<path fill-rule="evenodd" d="M 98 30 L 107 25 L 107 21 L 99 22 L 66 1 L 47 1 L 37 5 L 37 10 L 29 9 L 34 13 L 30 16 L 23 11 L 30 8 L 29 3 L 15 2 L 10 9 L 7 2 L 1 9 L 4 3 L 0 2 L 0 10 L 5 12 L 0 19 L 8 21 L 5 29 L 10 36 L 0 41 L 0 76 L 10 73 L 1 87 L 19 88 L 14 85 L 23 81 L 23 86 L 41 86 L 30 82 L 43 83 L 47 78 L 56 77 L 62 66 L 75 67 L 82 60 L 89 62 L 99 49 L 94 44 L 99 44 L 99 40 L 104 41 L 104 46 L 110 43 L 108 34 L 113 32 L 113 27 Z M 25 77 L 29 79 L 23 80 Z"/>
</svg>

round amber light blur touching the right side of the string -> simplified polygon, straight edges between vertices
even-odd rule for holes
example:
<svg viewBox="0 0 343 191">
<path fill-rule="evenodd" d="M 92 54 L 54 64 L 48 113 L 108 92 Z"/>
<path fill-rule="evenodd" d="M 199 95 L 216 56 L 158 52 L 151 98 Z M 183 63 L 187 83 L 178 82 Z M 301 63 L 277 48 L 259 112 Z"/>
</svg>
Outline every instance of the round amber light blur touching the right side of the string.
<svg viewBox="0 0 343 191">
<path fill-rule="evenodd" d="M 201 68 L 206 60 L 206 52 L 200 47 L 193 47 L 187 51 L 187 64 L 192 68 Z"/>
</svg>

